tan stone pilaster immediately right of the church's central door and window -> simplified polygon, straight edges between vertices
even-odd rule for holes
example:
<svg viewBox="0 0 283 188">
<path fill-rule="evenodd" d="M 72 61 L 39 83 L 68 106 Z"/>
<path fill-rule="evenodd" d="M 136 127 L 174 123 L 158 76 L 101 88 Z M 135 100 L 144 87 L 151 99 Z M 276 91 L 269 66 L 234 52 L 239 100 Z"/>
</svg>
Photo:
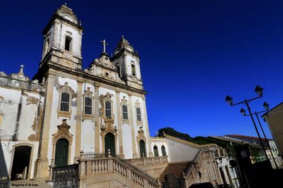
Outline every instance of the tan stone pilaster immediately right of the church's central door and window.
<svg viewBox="0 0 283 188">
<path fill-rule="evenodd" d="M 119 137 L 119 155 L 124 158 L 123 150 L 123 135 L 122 135 L 122 123 L 121 123 L 121 105 L 120 105 L 120 92 L 115 91 L 116 93 L 116 106 L 117 106 L 117 126 L 118 126 L 118 137 Z"/>
</svg>

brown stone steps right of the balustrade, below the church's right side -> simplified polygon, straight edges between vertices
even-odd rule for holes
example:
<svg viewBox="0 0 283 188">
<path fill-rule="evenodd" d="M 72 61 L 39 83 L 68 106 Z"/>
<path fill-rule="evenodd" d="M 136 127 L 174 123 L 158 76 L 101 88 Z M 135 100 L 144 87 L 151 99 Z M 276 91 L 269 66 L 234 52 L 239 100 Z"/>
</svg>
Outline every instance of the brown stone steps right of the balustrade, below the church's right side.
<svg viewBox="0 0 283 188">
<path fill-rule="evenodd" d="M 182 163 L 168 163 L 167 167 L 161 175 L 159 176 L 160 183 L 163 183 L 166 174 L 174 174 L 175 178 L 182 178 L 183 172 L 186 171 L 186 168 L 190 165 L 189 162 L 182 162 Z"/>
</svg>

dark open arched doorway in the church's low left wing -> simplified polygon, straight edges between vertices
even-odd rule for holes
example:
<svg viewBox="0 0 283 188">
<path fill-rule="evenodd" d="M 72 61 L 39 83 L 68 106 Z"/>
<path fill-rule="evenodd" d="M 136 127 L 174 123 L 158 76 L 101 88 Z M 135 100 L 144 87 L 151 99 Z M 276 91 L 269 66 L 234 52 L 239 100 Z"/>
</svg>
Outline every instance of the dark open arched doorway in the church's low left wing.
<svg viewBox="0 0 283 188">
<path fill-rule="evenodd" d="M 30 154 L 32 147 L 18 146 L 14 149 L 14 158 L 12 164 L 11 179 L 26 179 L 30 167 Z"/>
</svg>

